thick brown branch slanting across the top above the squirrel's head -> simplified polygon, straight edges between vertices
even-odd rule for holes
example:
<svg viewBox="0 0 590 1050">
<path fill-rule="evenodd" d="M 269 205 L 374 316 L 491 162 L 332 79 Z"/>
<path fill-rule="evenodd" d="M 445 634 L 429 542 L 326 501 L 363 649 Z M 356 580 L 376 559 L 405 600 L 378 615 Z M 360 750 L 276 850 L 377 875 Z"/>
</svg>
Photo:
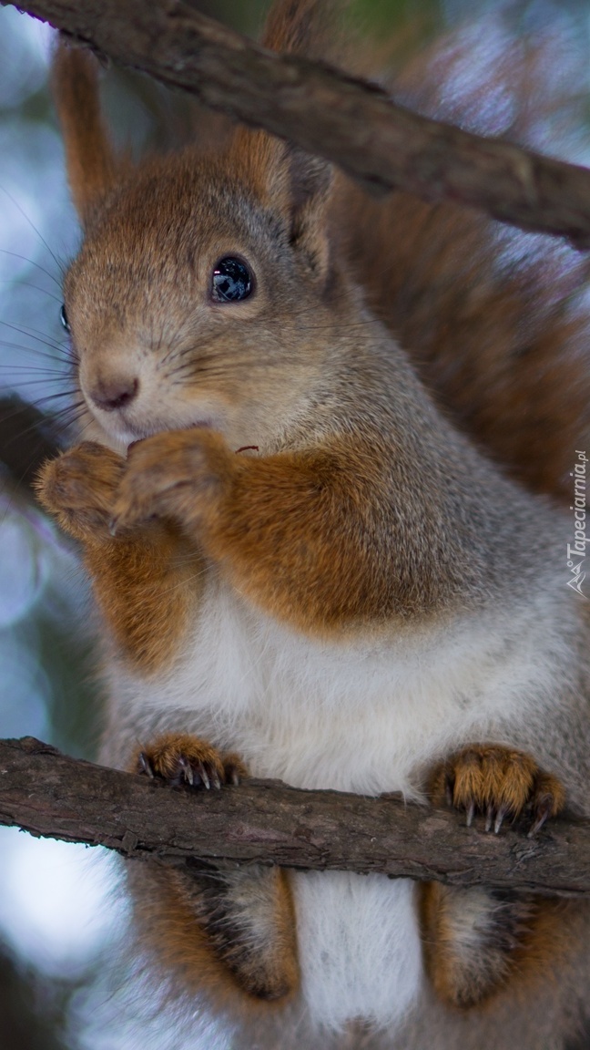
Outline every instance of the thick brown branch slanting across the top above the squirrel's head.
<svg viewBox="0 0 590 1050">
<path fill-rule="evenodd" d="M 427 120 L 374 85 L 299 57 L 279 58 L 198 14 L 191 0 L 18 6 L 206 105 L 328 158 L 364 184 L 456 201 L 590 247 L 587 169 Z"/>
</svg>

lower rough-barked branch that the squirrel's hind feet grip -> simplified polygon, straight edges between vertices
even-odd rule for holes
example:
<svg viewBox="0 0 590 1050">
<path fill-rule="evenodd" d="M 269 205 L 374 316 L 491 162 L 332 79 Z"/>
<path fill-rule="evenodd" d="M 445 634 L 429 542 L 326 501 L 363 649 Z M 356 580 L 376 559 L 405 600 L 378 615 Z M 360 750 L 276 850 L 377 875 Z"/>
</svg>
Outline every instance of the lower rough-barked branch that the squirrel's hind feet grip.
<svg viewBox="0 0 590 1050">
<path fill-rule="evenodd" d="M 343 868 L 557 895 L 590 894 L 588 825 L 556 820 L 535 839 L 467 827 L 398 796 L 297 791 L 276 780 L 220 792 L 170 788 L 61 755 L 33 737 L 0 740 L 0 823 L 170 862 Z"/>
</svg>

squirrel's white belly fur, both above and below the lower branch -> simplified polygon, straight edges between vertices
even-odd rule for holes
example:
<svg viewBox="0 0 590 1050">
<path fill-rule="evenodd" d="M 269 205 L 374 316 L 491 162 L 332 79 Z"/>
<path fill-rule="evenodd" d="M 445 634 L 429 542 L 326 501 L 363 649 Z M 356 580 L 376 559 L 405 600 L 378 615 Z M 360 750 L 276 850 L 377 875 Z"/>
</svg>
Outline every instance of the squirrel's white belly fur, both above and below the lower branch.
<svg viewBox="0 0 590 1050">
<path fill-rule="evenodd" d="M 542 620 L 538 609 L 509 625 L 488 616 L 412 639 L 328 645 L 215 584 L 173 673 L 146 681 L 120 668 L 111 695 L 139 736 L 168 710 L 170 729 L 238 751 L 255 776 L 419 798 L 425 763 L 551 702 Z M 414 884 L 347 873 L 297 874 L 293 884 L 312 1015 L 330 1027 L 394 1024 L 422 980 Z"/>
</svg>

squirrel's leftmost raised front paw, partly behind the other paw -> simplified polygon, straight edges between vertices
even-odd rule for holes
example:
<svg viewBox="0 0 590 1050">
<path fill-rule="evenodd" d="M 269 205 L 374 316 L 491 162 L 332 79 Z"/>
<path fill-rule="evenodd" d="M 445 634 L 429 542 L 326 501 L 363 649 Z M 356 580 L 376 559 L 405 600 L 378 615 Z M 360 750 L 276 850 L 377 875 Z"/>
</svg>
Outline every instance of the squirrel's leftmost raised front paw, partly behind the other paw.
<svg viewBox="0 0 590 1050">
<path fill-rule="evenodd" d="M 42 466 L 38 498 L 60 525 L 77 539 L 108 537 L 115 492 L 125 460 L 92 441 L 70 448 Z"/>
</svg>

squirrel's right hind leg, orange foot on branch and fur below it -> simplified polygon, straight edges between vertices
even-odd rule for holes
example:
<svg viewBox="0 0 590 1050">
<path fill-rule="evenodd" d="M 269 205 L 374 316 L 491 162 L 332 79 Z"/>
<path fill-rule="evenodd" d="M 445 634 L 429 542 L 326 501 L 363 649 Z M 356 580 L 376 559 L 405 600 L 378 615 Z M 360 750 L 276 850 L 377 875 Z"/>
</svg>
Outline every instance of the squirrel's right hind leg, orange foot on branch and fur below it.
<svg viewBox="0 0 590 1050">
<path fill-rule="evenodd" d="M 554 816 L 564 806 L 560 781 L 520 751 L 494 744 L 465 748 L 436 770 L 429 793 L 457 808 L 485 814 L 488 823 L 526 811 Z M 513 976 L 542 979 L 565 953 L 563 902 L 441 883 L 420 887 L 426 967 L 438 994 L 451 1006 L 486 1003 Z"/>
</svg>

